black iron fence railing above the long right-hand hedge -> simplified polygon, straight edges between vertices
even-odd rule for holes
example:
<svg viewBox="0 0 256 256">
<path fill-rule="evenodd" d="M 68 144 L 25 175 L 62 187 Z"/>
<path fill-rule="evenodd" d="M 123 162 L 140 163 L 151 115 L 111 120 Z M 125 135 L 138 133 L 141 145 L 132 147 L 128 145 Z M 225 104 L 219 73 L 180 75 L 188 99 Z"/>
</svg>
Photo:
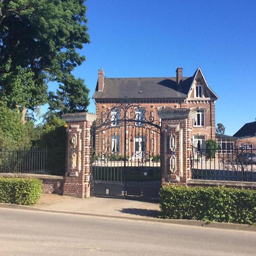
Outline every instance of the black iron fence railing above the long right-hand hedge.
<svg viewBox="0 0 256 256">
<path fill-rule="evenodd" d="M 256 182 L 256 149 L 193 147 L 192 179 Z"/>
</svg>

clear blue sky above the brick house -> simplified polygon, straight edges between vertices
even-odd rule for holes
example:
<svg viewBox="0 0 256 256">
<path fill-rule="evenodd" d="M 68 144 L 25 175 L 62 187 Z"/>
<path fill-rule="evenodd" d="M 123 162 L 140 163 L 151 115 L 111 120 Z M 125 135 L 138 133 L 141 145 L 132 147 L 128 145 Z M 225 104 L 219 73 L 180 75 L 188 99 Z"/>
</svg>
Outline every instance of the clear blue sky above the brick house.
<svg viewBox="0 0 256 256">
<path fill-rule="evenodd" d="M 233 135 L 256 118 L 256 1 L 87 0 L 91 43 L 74 74 L 90 98 L 106 77 L 192 76 L 201 67 L 216 123 Z M 94 112 L 91 100 L 89 112 Z"/>
</svg>

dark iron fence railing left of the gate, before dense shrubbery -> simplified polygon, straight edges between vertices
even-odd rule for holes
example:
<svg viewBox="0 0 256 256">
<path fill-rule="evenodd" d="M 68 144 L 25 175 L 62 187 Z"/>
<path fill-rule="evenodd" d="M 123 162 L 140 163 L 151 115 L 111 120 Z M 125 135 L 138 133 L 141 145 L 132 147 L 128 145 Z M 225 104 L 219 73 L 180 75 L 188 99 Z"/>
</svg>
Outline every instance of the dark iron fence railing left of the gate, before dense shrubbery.
<svg viewBox="0 0 256 256">
<path fill-rule="evenodd" d="M 0 149 L 0 173 L 49 174 L 47 148 Z"/>
</svg>

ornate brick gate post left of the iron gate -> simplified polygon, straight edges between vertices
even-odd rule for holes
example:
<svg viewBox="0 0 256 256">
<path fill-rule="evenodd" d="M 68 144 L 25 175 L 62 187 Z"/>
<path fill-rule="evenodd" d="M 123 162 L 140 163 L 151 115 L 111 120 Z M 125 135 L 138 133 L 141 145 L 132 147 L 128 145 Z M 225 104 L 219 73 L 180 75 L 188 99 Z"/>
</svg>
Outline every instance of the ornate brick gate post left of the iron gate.
<svg viewBox="0 0 256 256">
<path fill-rule="evenodd" d="M 62 115 L 67 122 L 66 173 L 64 196 L 90 196 L 90 127 L 96 115 L 68 113 Z"/>
</svg>

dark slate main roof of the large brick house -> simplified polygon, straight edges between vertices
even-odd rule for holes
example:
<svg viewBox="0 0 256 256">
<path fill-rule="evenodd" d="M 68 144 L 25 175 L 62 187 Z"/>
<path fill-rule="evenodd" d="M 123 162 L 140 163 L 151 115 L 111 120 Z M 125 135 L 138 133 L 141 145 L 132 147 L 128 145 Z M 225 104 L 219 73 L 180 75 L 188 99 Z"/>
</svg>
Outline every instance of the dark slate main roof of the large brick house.
<svg viewBox="0 0 256 256">
<path fill-rule="evenodd" d="M 179 98 L 187 97 L 192 83 L 191 77 L 183 77 L 181 88 L 177 90 L 176 77 L 150 77 L 150 78 L 106 78 L 104 90 L 96 92 L 93 98 Z M 189 85 L 190 84 L 190 85 Z M 183 86 L 184 85 L 184 86 Z"/>
</svg>

